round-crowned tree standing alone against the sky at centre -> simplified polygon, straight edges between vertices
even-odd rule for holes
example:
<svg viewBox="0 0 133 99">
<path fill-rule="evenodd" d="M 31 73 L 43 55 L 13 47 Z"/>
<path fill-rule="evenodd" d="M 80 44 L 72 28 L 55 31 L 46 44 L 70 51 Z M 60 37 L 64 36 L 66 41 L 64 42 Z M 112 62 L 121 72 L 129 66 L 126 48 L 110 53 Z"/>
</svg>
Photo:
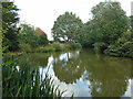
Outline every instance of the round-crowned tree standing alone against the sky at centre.
<svg viewBox="0 0 133 99">
<path fill-rule="evenodd" d="M 54 41 L 61 41 L 61 38 L 63 38 L 65 42 L 78 42 L 81 35 L 80 29 L 83 23 L 80 18 L 75 16 L 72 12 L 65 12 L 54 21 L 52 36 Z"/>
</svg>

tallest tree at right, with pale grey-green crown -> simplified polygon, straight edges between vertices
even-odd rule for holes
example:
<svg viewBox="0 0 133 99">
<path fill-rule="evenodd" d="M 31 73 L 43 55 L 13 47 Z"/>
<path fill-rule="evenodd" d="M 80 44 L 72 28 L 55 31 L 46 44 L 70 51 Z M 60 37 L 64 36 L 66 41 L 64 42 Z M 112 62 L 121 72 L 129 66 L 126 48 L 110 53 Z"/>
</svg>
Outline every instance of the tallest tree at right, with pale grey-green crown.
<svg viewBox="0 0 133 99">
<path fill-rule="evenodd" d="M 100 2 L 92 8 L 93 20 L 98 25 L 96 42 L 113 44 L 123 32 L 129 29 L 129 19 L 121 8 L 120 2 L 105 1 Z"/>
</svg>

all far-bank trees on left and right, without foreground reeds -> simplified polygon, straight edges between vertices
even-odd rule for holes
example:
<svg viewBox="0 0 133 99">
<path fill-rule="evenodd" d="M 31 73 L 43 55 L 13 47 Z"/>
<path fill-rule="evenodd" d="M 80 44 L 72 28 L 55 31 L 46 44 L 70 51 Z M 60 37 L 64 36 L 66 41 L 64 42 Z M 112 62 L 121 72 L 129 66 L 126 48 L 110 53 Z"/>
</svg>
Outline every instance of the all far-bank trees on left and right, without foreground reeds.
<svg viewBox="0 0 133 99">
<path fill-rule="evenodd" d="M 47 35 L 37 35 L 29 24 L 19 28 L 19 9 L 13 3 L 2 3 L 3 43 L 9 51 L 45 52 L 50 42 Z M 132 57 L 133 16 L 126 16 L 121 3 L 116 1 L 100 2 L 91 10 L 92 19 L 86 23 L 72 12 L 58 16 L 51 30 L 53 42 L 66 43 L 73 47 L 94 47 L 95 51 L 113 56 Z M 58 44 L 54 44 L 59 46 Z M 51 46 L 51 45 L 50 45 Z M 61 47 L 61 46 L 60 46 Z M 48 47 L 47 47 L 48 48 Z M 54 51 L 52 47 L 47 51 Z M 65 47 L 64 47 L 65 48 Z"/>
</svg>

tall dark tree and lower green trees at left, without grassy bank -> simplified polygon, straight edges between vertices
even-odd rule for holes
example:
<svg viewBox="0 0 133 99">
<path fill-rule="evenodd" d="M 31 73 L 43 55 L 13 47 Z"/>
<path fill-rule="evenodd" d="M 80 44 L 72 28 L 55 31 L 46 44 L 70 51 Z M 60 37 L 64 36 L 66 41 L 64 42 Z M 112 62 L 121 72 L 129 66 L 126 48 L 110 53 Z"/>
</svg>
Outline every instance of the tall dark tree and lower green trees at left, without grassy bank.
<svg viewBox="0 0 133 99">
<path fill-rule="evenodd" d="M 3 43 L 2 46 L 7 46 L 7 51 L 28 51 L 39 45 L 45 45 L 49 43 L 47 34 L 42 33 L 38 35 L 35 29 L 30 24 L 19 23 L 19 9 L 12 2 L 2 3 L 2 31 Z M 6 52 L 7 52 L 6 51 Z"/>
</svg>

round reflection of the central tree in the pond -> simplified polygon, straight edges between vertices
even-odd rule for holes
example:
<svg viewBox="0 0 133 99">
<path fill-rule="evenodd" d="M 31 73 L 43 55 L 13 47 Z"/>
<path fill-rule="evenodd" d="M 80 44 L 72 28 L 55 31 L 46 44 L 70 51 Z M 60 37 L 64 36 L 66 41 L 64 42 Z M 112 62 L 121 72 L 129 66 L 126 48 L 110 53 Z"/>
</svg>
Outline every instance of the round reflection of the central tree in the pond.
<svg viewBox="0 0 133 99">
<path fill-rule="evenodd" d="M 55 76 L 66 84 L 75 82 L 84 72 L 79 52 L 65 53 L 54 57 L 53 69 Z"/>
</svg>

